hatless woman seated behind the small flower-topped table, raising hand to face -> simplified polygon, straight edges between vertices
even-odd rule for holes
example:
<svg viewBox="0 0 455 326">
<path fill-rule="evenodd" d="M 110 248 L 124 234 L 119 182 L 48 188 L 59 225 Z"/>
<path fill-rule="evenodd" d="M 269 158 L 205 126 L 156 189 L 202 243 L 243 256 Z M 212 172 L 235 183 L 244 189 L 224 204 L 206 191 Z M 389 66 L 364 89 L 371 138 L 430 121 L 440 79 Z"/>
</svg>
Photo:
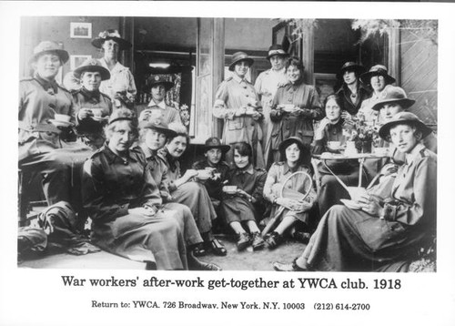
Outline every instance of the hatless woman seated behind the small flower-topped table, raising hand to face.
<svg viewBox="0 0 455 326">
<path fill-rule="evenodd" d="M 341 117 L 343 101 L 339 95 L 329 95 L 324 103 L 326 118 L 322 120 L 316 132 L 312 146 L 313 154 L 323 152 L 339 153 L 339 148 L 346 144 L 343 135 L 345 120 Z M 319 214 L 323 216 L 333 205 L 339 204 L 339 199 L 349 199 L 348 191 L 329 172 L 321 161 L 317 161 L 320 179 L 319 184 Z M 359 162 L 351 160 L 327 160 L 326 164 L 347 185 L 356 186 L 359 180 Z"/>
</svg>

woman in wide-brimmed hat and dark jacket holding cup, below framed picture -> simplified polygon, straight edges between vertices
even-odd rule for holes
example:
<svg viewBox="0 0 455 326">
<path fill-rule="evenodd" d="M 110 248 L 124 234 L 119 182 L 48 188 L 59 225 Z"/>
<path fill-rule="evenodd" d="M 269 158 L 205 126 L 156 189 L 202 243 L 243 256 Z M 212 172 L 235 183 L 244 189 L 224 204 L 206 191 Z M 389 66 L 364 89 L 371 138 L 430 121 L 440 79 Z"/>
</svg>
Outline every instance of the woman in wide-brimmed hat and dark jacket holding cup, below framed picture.
<svg viewBox="0 0 455 326">
<path fill-rule="evenodd" d="M 88 59 L 75 69 L 74 76 L 81 84 L 81 88 L 71 93 L 77 136 L 90 148 L 101 148 L 106 140 L 103 127 L 112 113 L 112 102 L 99 91 L 99 87 L 111 74 L 96 59 Z"/>
</svg>

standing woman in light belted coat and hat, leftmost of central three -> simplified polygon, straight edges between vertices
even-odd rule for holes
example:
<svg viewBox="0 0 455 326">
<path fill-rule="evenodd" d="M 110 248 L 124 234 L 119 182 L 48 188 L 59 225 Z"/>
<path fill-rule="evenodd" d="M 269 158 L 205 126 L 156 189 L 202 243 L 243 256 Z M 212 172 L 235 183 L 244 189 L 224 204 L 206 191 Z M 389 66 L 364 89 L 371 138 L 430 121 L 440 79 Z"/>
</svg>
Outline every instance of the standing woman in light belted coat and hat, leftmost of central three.
<svg viewBox="0 0 455 326">
<path fill-rule="evenodd" d="M 213 115 L 224 120 L 223 143 L 233 145 L 245 141 L 253 148 L 253 164 L 265 168 L 262 152 L 262 108 L 255 88 L 246 79 L 254 60 L 244 52 L 232 56 L 229 70 L 234 76 L 223 81 L 215 96 Z M 232 164 L 232 151 L 227 152 L 227 162 Z"/>
</svg>

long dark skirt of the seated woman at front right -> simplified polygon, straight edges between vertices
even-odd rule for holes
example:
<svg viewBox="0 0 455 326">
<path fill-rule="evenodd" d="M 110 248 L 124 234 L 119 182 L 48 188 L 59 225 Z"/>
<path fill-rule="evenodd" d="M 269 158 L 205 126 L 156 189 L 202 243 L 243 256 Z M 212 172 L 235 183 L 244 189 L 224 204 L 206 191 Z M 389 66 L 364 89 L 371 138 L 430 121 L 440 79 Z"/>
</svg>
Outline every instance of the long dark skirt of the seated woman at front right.
<svg viewBox="0 0 455 326">
<path fill-rule="evenodd" d="M 424 231 L 336 205 L 320 220 L 302 254 L 312 270 L 368 271 L 409 257 Z"/>
</svg>

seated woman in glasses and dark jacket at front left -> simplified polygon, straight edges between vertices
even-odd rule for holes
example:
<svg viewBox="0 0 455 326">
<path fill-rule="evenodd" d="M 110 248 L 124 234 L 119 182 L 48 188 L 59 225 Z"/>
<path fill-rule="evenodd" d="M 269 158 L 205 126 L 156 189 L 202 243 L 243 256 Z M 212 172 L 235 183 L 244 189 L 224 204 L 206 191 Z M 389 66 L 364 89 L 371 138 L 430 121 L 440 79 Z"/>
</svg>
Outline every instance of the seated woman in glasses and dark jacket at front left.
<svg viewBox="0 0 455 326">
<path fill-rule="evenodd" d="M 93 219 L 92 241 L 128 259 L 155 263 L 158 270 L 219 270 L 187 253 L 176 210 L 161 206 L 144 154 L 130 148 L 136 126 L 130 110 L 116 110 L 106 126 L 106 145 L 84 165 L 83 202 Z"/>
</svg>

